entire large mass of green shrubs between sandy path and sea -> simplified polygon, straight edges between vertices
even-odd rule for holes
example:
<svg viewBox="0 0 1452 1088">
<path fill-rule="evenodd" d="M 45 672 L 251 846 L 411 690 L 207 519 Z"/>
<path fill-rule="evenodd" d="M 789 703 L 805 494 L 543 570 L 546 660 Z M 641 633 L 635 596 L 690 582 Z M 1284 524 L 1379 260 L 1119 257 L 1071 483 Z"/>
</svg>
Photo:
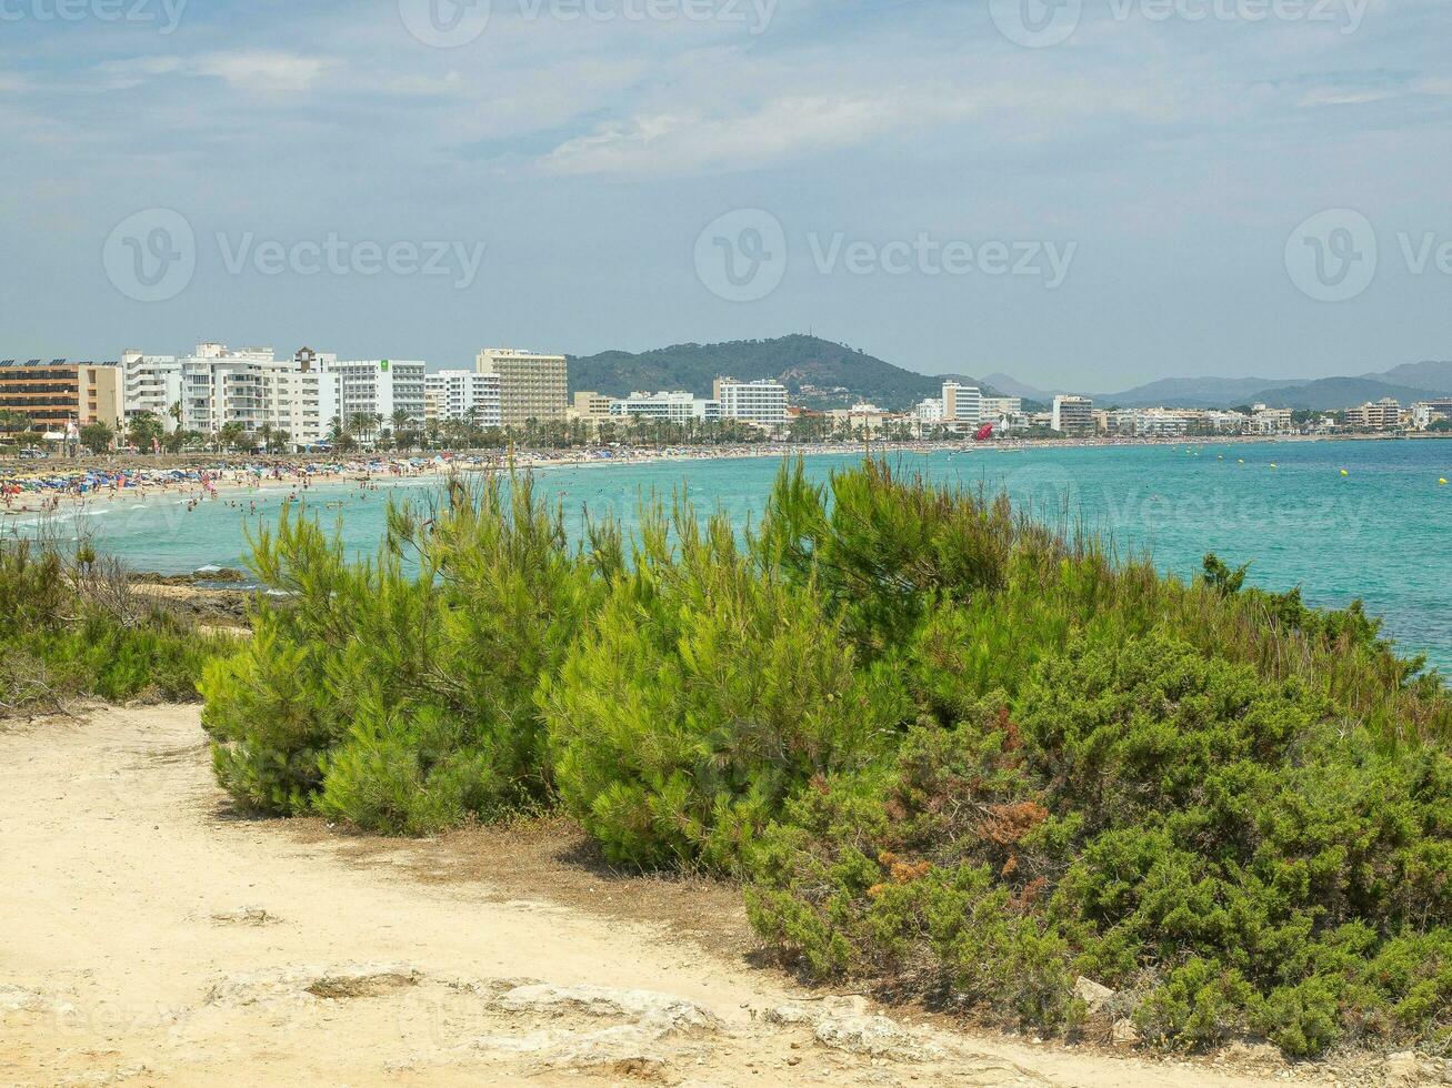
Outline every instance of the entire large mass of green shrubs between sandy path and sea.
<svg viewBox="0 0 1452 1088">
<path fill-rule="evenodd" d="M 1359 605 L 874 461 L 787 466 L 752 532 L 642 527 L 572 548 L 527 479 L 393 509 L 366 563 L 285 516 L 285 596 L 203 683 L 219 780 L 389 833 L 559 805 L 741 878 L 810 975 L 1035 1030 L 1446 1039 L 1452 702 Z"/>
</svg>

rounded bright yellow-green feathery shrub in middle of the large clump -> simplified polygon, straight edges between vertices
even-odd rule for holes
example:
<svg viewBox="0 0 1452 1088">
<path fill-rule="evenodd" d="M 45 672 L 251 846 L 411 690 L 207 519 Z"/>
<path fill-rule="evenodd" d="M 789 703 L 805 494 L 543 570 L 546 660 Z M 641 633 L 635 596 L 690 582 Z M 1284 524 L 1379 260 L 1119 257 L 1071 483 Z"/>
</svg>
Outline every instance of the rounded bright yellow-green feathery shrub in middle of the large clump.
<svg viewBox="0 0 1452 1088">
<path fill-rule="evenodd" d="M 887 750 L 906 712 L 886 670 L 857 669 L 813 588 L 703 532 L 646 518 L 540 705 L 559 796 L 617 863 L 729 869 L 813 778 Z"/>
</svg>

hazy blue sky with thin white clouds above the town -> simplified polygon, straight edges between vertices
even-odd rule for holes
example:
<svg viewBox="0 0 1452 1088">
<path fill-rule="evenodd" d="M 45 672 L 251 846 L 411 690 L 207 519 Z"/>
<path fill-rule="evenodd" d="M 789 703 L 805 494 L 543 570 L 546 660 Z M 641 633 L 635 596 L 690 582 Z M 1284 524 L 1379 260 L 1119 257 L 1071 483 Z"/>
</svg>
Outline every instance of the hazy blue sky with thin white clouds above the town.
<svg viewBox="0 0 1452 1088">
<path fill-rule="evenodd" d="M 1446 0 L 0 0 L 0 357 L 1452 358 Z"/>
</svg>

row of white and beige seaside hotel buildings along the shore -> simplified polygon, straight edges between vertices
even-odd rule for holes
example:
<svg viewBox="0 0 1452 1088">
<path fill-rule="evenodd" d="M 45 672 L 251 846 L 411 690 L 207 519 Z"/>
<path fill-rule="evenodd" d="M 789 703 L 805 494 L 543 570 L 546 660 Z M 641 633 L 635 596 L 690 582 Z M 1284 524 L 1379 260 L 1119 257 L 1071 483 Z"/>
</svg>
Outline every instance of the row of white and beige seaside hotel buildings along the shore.
<svg viewBox="0 0 1452 1088">
<path fill-rule="evenodd" d="M 1452 431 L 1452 397 L 1340 411 L 1250 403 L 1121 406 L 1086 395 L 1037 402 L 945 380 L 910 408 L 833 390 L 839 408 L 793 403 L 780 379 L 717 376 L 709 390 L 611 396 L 576 387 L 569 358 L 485 348 L 472 368 L 344 360 L 312 348 L 203 342 L 180 355 L 126 350 L 112 363 L 0 360 L 0 454 L 110 451 L 331 454 L 526 445 L 986 440 L 1179 440 Z"/>
</svg>

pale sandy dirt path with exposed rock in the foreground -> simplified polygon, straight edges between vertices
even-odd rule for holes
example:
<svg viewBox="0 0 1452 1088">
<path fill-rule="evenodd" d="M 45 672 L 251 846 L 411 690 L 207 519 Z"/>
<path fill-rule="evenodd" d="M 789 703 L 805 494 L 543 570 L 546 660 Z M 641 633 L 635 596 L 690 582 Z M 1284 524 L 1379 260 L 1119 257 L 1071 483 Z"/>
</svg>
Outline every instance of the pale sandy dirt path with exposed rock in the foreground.
<svg viewBox="0 0 1452 1088">
<path fill-rule="evenodd" d="M 229 818 L 192 708 L 0 733 L 0 1084 L 1263 1084 L 905 1027 L 405 857 Z"/>
</svg>

